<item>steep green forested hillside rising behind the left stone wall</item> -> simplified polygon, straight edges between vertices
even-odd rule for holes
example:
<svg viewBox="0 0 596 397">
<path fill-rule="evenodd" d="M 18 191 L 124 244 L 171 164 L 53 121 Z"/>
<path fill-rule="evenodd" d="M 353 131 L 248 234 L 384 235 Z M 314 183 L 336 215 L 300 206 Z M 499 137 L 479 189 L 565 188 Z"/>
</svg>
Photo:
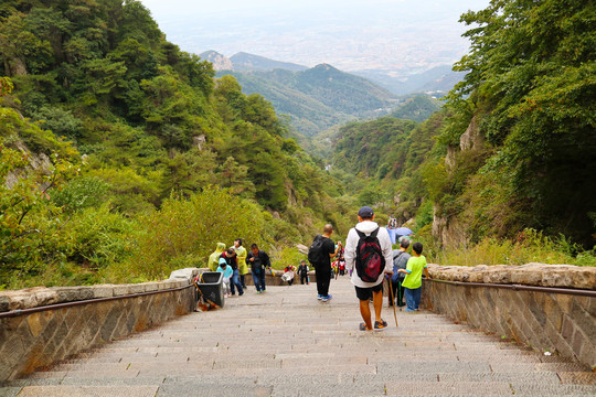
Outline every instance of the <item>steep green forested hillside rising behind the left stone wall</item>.
<svg viewBox="0 0 596 397">
<path fill-rule="evenodd" d="M 0 288 L 160 278 L 236 237 L 291 256 L 323 219 L 347 228 L 273 106 L 139 1 L 3 1 L 0 65 Z"/>
</svg>

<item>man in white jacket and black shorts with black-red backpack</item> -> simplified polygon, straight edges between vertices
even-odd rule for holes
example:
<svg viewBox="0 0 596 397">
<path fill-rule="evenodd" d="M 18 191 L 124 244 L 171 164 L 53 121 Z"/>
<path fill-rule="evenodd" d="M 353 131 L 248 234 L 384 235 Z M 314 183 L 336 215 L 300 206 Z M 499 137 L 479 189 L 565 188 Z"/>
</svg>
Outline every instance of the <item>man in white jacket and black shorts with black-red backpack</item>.
<svg viewBox="0 0 596 397">
<path fill-rule="evenodd" d="M 352 283 L 360 300 L 361 331 L 383 330 L 387 323 L 381 318 L 384 273 L 392 273 L 391 238 L 384 227 L 374 222 L 374 211 L 363 206 L 358 212 L 359 223 L 345 239 L 345 267 L 353 269 Z M 374 325 L 371 321 L 370 299 L 373 299 Z"/>
</svg>

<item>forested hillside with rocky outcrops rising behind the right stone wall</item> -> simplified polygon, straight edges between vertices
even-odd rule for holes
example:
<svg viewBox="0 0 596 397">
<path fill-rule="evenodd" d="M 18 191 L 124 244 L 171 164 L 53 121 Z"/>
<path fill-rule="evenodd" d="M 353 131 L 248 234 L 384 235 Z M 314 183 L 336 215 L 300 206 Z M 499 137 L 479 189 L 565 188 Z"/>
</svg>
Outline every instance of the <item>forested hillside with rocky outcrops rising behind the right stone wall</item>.
<svg viewBox="0 0 596 397">
<path fill-rule="evenodd" d="M 464 14 L 472 49 L 446 107 L 409 132 L 391 118 L 345 127 L 336 172 L 371 176 L 369 197 L 432 223 L 444 247 L 512 242 L 496 260 L 515 262 L 514 244 L 558 242 L 568 256 L 546 260 L 596 262 L 583 251 L 596 232 L 594 10 L 509 0 Z"/>
</svg>

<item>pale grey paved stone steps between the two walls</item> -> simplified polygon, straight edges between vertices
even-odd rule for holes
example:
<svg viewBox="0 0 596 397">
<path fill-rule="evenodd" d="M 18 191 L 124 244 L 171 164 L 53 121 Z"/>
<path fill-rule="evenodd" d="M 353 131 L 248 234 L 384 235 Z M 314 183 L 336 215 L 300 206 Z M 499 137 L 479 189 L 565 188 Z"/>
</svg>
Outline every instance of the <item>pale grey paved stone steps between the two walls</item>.
<svg viewBox="0 0 596 397">
<path fill-rule="evenodd" d="M 269 287 L 4 384 L 0 396 L 595 396 L 585 366 L 429 312 L 361 332 L 348 277 Z"/>
</svg>

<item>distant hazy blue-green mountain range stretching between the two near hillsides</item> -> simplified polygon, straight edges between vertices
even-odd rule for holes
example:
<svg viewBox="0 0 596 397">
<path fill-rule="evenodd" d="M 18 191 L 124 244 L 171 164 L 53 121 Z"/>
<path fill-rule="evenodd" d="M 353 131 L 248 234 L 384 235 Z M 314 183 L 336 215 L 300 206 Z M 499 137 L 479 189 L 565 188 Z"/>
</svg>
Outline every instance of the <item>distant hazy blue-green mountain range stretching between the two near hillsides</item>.
<svg viewBox="0 0 596 397">
<path fill-rule="evenodd" d="M 226 57 L 215 51 L 200 56 L 213 63 L 219 76 L 233 75 L 245 94 L 263 95 L 278 114 L 288 115 L 292 126 L 306 137 L 338 124 L 391 112 L 422 121 L 436 106 L 430 98 L 426 103 L 419 98 L 414 101 L 398 98 L 372 78 L 344 73 L 328 64 L 308 68 L 247 53 Z M 428 85 L 436 77 L 437 73 L 428 73 L 416 84 Z M 401 105 L 408 106 L 400 111 Z"/>
</svg>

